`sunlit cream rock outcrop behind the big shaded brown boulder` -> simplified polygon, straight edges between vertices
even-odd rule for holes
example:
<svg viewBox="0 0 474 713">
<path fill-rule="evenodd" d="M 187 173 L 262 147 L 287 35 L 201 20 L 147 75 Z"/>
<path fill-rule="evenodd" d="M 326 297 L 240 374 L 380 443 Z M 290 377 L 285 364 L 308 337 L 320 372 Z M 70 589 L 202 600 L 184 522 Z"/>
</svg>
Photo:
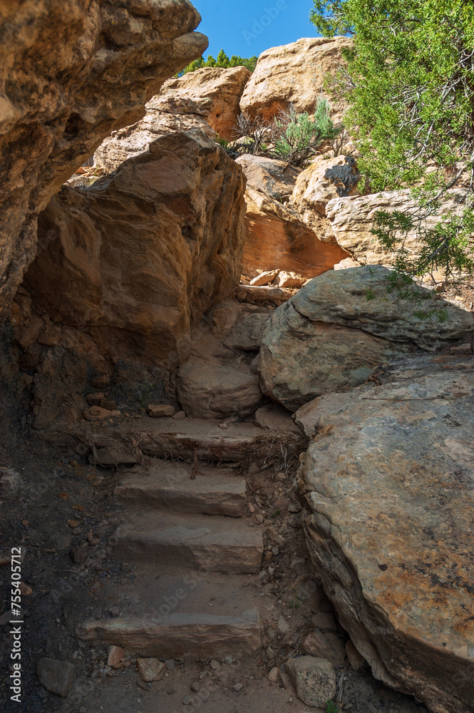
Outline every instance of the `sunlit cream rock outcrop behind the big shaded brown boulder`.
<svg viewBox="0 0 474 713">
<path fill-rule="evenodd" d="M 203 68 L 169 79 L 146 105 L 146 114 L 106 138 L 94 154 L 96 165 L 112 171 L 143 153 L 158 136 L 198 128 L 210 138 L 231 140 L 239 100 L 250 73 L 245 67 Z"/>
</svg>

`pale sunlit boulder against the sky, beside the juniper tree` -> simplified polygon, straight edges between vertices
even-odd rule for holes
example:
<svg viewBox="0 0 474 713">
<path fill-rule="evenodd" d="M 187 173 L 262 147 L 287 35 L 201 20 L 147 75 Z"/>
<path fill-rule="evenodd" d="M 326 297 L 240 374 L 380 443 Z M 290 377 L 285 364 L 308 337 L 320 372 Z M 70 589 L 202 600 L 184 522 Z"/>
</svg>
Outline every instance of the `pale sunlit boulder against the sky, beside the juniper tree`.
<svg viewBox="0 0 474 713">
<path fill-rule="evenodd" d="M 257 67 L 245 87 L 240 108 L 251 115 L 273 119 L 292 103 L 298 113 L 312 112 L 324 93 L 324 76 L 335 73 L 342 61 L 341 48 L 350 47 L 346 37 L 306 38 L 274 47 L 259 56 Z M 340 120 L 343 101 L 332 106 L 332 118 Z"/>
</svg>

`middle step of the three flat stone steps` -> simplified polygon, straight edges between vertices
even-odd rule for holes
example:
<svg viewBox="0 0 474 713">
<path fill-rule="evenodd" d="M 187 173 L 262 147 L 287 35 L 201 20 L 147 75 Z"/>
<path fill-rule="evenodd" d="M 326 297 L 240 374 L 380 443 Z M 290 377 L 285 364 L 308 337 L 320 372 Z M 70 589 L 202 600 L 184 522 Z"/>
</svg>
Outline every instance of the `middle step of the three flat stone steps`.
<svg viewBox="0 0 474 713">
<path fill-rule="evenodd" d="M 259 572 L 262 534 L 247 520 L 151 512 L 129 522 L 108 540 L 115 558 L 207 572 Z"/>
</svg>

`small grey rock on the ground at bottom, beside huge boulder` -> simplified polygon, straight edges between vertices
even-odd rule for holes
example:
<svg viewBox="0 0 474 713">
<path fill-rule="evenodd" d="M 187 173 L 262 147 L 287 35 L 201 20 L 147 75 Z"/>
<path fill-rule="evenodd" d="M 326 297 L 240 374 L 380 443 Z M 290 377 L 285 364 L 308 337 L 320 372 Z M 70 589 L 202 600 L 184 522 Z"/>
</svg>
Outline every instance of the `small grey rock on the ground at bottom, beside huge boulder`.
<svg viewBox="0 0 474 713">
<path fill-rule="evenodd" d="M 313 656 L 300 656 L 285 664 L 297 696 L 307 706 L 325 708 L 336 695 L 336 674 L 332 664 Z"/>
</svg>

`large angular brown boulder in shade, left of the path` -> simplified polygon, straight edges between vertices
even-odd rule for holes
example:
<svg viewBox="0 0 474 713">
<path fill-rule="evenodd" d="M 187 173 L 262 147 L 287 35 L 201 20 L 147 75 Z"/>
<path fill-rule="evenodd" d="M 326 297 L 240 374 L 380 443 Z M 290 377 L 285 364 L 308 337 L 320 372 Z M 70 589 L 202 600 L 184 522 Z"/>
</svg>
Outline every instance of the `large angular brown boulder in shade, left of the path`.
<svg viewBox="0 0 474 713">
<path fill-rule="evenodd" d="M 25 276 L 36 312 L 79 326 L 104 353 L 175 368 L 190 330 L 239 282 L 244 177 L 199 131 L 165 135 L 41 214 Z"/>
</svg>

